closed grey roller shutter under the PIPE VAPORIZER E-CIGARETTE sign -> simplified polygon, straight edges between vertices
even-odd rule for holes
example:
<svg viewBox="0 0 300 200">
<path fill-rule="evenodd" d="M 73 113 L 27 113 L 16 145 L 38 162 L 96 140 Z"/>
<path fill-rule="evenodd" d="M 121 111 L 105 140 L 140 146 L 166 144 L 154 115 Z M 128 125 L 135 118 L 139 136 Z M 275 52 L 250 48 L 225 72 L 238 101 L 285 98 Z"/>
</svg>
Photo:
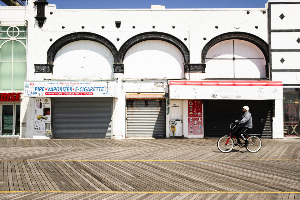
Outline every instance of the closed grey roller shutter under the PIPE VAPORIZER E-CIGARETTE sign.
<svg viewBox="0 0 300 200">
<path fill-rule="evenodd" d="M 111 138 L 112 98 L 54 98 L 54 138 Z"/>
</svg>

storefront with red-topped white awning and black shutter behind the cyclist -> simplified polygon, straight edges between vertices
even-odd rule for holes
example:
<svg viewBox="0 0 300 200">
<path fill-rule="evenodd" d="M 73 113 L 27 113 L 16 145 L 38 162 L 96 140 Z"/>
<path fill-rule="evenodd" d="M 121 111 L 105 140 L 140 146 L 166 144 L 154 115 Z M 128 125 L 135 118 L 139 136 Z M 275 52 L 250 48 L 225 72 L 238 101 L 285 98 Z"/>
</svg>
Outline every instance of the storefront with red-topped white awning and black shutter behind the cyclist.
<svg viewBox="0 0 300 200">
<path fill-rule="evenodd" d="M 276 100 L 282 101 L 282 83 L 170 81 L 169 96 L 170 104 L 174 100 L 183 101 L 184 137 L 217 138 L 225 135 L 230 123 L 241 117 L 242 107 L 247 105 L 253 120 L 252 133 L 272 138 L 273 107 Z"/>
</svg>

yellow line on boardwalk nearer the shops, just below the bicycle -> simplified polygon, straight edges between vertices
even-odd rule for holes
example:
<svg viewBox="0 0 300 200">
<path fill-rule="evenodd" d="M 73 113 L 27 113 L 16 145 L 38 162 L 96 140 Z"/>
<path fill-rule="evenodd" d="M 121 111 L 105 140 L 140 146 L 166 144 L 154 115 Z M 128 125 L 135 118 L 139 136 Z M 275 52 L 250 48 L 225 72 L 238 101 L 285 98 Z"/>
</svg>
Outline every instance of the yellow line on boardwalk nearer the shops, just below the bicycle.
<svg viewBox="0 0 300 200">
<path fill-rule="evenodd" d="M 300 161 L 299 159 L 227 159 L 227 160 L 0 160 L 0 161 Z"/>
</svg>

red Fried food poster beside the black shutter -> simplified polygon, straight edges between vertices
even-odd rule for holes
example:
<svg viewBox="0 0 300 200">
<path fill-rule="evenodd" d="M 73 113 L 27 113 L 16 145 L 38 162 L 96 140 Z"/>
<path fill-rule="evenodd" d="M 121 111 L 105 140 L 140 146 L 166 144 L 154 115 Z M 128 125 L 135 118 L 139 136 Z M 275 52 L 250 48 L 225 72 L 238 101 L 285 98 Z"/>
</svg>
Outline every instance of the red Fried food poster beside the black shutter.
<svg viewBox="0 0 300 200">
<path fill-rule="evenodd" d="M 202 100 L 188 101 L 188 134 L 203 135 Z"/>
</svg>

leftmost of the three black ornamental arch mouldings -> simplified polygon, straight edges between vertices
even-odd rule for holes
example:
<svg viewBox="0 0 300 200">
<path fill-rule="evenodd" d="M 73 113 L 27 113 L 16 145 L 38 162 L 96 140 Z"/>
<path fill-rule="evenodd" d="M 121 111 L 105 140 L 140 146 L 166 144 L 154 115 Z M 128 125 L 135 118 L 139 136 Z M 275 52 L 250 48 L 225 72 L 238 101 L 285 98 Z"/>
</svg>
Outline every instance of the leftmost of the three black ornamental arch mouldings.
<svg viewBox="0 0 300 200">
<path fill-rule="evenodd" d="M 113 54 L 114 62 L 118 61 L 118 51 L 115 45 L 110 42 L 105 37 L 92 33 L 92 32 L 74 32 L 68 35 L 64 35 L 56 40 L 47 51 L 47 64 L 53 64 L 56 53 L 59 49 L 70 42 L 78 41 L 78 40 L 91 40 L 95 42 L 99 42 L 106 46 Z"/>
</svg>

